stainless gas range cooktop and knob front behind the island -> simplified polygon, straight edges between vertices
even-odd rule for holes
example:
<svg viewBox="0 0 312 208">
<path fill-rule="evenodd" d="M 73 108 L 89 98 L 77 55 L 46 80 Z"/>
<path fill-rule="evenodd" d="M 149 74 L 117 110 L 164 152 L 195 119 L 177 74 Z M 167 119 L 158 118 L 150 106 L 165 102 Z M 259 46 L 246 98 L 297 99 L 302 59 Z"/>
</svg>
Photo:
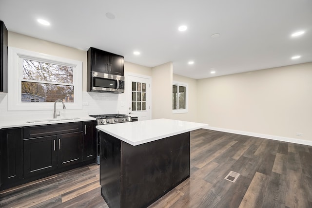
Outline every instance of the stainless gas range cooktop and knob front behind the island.
<svg viewBox="0 0 312 208">
<path fill-rule="evenodd" d="M 90 116 L 97 119 L 97 125 L 123 123 L 131 121 L 131 117 L 126 114 L 102 114 Z"/>
</svg>

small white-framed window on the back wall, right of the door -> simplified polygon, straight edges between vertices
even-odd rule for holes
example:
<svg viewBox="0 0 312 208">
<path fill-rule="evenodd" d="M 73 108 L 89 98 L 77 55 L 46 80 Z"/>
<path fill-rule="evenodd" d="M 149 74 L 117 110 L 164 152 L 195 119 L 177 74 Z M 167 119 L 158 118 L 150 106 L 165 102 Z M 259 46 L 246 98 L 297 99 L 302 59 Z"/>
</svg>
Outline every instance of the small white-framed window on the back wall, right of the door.
<svg viewBox="0 0 312 208">
<path fill-rule="evenodd" d="M 188 113 L 188 84 L 173 82 L 172 85 L 172 110 L 173 113 Z"/>
</svg>

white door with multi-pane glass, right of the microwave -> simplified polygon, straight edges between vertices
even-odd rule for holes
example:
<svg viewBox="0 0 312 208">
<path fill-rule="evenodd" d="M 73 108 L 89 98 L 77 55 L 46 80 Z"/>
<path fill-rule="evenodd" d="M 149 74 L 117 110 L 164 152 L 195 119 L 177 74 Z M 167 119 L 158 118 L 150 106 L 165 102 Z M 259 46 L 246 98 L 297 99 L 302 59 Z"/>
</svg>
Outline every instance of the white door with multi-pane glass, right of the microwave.
<svg viewBox="0 0 312 208">
<path fill-rule="evenodd" d="M 152 119 L 150 76 L 127 75 L 127 111 L 139 121 Z"/>
</svg>

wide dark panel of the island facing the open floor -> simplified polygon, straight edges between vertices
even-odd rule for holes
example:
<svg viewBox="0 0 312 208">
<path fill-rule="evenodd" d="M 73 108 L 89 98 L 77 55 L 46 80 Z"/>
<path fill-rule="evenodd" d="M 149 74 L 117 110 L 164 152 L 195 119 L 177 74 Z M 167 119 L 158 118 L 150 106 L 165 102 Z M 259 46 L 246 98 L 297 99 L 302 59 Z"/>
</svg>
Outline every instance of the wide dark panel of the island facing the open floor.
<svg viewBox="0 0 312 208">
<path fill-rule="evenodd" d="M 147 207 L 190 177 L 190 132 L 137 146 L 121 141 L 121 155 L 121 207 Z"/>
</svg>

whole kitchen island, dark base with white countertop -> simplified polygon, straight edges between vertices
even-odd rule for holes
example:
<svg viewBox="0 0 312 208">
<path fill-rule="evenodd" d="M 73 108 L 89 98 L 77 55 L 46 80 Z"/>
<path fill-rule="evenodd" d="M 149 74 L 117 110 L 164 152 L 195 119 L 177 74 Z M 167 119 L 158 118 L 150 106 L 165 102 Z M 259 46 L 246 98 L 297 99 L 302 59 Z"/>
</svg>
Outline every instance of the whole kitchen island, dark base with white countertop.
<svg viewBox="0 0 312 208">
<path fill-rule="evenodd" d="M 108 206 L 147 207 L 190 177 L 190 131 L 205 126 L 170 119 L 98 125 Z"/>
</svg>

